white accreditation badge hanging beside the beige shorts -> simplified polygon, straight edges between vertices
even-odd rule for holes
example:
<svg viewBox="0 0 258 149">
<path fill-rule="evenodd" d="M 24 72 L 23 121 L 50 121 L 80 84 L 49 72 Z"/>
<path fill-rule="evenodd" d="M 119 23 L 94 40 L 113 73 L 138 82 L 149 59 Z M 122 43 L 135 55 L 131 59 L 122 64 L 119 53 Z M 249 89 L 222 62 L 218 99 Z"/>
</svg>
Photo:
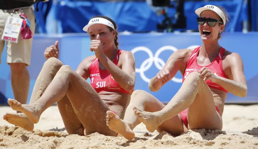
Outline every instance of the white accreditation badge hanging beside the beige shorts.
<svg viewBox="0 0 258 149">
<path fill-rule="evenodd" d="M 17 17 L 7 17 L 5 28 L 3 30 L 2 40 L 18 42 L 19 33 L 23 19 Z"/>
</svg>

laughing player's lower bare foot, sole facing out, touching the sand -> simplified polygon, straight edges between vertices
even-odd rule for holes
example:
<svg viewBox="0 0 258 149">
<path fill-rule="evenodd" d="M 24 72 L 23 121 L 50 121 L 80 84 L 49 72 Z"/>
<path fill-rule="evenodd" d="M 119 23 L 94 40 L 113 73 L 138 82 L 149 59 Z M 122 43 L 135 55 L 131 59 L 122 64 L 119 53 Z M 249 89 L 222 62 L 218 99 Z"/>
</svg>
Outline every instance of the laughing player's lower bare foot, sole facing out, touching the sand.
<svg viewBox="0 0 258 149">
<path fill-rule="evenodd" d="M 112 111 L 107 111 L 107 126 L 128 140 L 134 139 L 134 132 L 128 124 Z"/>
</svg>

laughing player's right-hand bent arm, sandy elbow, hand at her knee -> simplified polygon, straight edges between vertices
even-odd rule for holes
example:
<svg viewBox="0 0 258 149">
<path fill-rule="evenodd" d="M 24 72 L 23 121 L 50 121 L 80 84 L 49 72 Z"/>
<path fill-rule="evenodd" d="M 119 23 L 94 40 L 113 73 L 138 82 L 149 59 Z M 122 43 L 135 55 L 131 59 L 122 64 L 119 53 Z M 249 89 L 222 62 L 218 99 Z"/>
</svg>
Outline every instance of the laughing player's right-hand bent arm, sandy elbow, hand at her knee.
<svg viewBox="0 0 258 149">
<path fill-rule="evenodd" d="M 230 70 L 225 72 L 229 79 L 213 74 L 206 67 L 200 70 L 200 74 L 205 78 L 205 81 L 210 80 L 236 96 L 245 97 L 247 95 L 247 83 L 242 58 L 237 53 L 231 53 L 225 57 L 223 64 L 225 64 L 223 65 L 224 68 Z"/>
</svg>

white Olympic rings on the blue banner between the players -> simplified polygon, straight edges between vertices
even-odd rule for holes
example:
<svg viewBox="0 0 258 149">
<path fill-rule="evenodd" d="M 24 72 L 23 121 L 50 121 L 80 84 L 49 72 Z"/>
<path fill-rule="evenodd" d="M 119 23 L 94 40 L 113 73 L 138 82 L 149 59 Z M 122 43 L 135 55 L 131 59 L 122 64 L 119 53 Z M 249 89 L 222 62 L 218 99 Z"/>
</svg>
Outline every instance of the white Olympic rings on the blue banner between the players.
<svg viewBox="0 0 258 149">
<path fill-rule="evenodd" d="M 189 47 L 187 47 L 187 49 L 193 49 L 196 47 L 198 47 L 198 45 L 189 46 Z M 149 48 L 144 47 L 144 46 L 138 46 L 131 50 L 131 52 L 133 54 L 135 54 L 138 51 L 144 51 L 149 56 L 149 58 L 147 58 L 146 60 L 144 60 L 142 62 L 142 64 L 140 65 L 140 68 L 135 68 L 135 72 L 140 73 L 142 80 L 144 80 L 147 83 L 150 81 L 150 79 L 145 76 L 144 72 L 147 71 L 153 65 L 153 62 L 155 64 L 156 68 L 158 68 L 159 70 L 161 70 L 165 66 L 165 61 L 163 59 L 159 58 L 159 55 L 161 54 L 161 52 L 163 52 L 165 50 L 171 50 L 171 51 L 175 52 L 178 49 L 174 46 L 163 46 L 156 51 L 154 56 L 153 56 L 152 51 Z M 176 83 L 182 83 L 182 78 L 173 77 L 171 80 Z"/>
</svg>

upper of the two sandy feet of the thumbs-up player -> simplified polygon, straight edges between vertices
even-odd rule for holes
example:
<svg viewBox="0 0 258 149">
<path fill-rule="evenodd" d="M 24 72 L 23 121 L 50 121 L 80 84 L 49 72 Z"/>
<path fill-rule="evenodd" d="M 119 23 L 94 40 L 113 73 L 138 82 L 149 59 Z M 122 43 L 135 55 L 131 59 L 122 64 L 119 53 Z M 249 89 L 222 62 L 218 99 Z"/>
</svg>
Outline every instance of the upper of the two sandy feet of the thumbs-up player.
<svg viewBox="0 0 258 149">
<path fill-rule="evenodd" d="M 40 118 L 40 113 L 38 110 L 35 109 L 32 105 L 27 104 L 21 104 L 15 99 L 8 99 L 8 104 L 11 106 L 11 108 L 15 111 L 21 111 L 22 113 L 26 114 L 28 119 L 32 123 L 38 123 Z"/>
</svg>

